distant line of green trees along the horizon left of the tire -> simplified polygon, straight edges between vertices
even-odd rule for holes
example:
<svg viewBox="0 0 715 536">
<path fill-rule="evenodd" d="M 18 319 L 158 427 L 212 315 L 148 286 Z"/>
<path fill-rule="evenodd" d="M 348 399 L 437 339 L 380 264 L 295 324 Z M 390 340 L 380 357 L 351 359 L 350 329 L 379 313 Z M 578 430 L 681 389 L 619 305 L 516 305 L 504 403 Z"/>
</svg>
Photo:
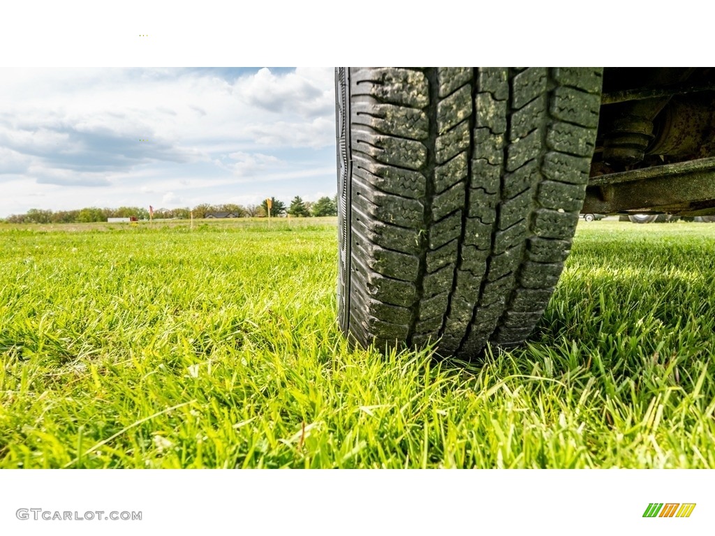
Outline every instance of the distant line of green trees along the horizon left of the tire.
<svg viewBox="0 0 715 536">
<path fill-rule="evenodd" d="M 320 216 L 336 216 L 337 215 L 337 195 L 330 197 L 321 197 L 316 202 L 303 201 L 299 196 L 293 198 L 289 207 L 275 197 L 270 198 L 271 217 L 280 217 L 290 215 L 290 217 L 320 217 Z M 193 209 L 182 207 L 179 209 L 154 209 L 154 219 L 188 219 L 191 213 L 194 213 L 194 218 L 205 218 L 209 214 L 224 212 L 235 214 L 236 217 L 266 217 L 268 214 L 267 202 L 264 199 L 259 205 L 255 204 L 199 204 Z M 11 214 L 5 218 L 4 222 L 8 223 L 88 223 L 88 222 L 106 222 L 107 218 L 129 218 L 136 217 L 137 219 L 149 219 L 149 209 L 142 207 L 119 207 L 118 209 L 97 207 L 87 207 L 78 210 L 43 210 L 29 209 L 25 214 Z"/>
</svg>

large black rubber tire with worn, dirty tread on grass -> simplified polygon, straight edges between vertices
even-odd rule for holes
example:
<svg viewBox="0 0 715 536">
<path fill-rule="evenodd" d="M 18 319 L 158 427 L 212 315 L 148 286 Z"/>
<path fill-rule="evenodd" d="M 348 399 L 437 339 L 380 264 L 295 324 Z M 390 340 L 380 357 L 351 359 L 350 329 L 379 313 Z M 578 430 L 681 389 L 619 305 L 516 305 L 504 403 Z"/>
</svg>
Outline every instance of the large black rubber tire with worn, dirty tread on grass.
<svg viewBox="0 0 715 536">
<path fill-rule="evenodd" d="M 338 309 L 381 350 L 518 344 L 558 282 L 601 69 L 338 68 Z"/>
</svg>

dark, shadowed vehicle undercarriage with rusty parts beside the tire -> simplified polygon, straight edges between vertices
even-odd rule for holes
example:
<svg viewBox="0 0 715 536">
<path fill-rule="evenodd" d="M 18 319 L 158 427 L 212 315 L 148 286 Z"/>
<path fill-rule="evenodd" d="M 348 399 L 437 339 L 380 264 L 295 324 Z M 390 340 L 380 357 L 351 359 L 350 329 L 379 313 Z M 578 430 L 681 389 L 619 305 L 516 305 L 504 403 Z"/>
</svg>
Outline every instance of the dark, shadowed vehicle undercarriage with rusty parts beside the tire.
<svg viewBox="0 0 715 536">
<path fill-rule="evenodd" d="M 715 214 L 715 71 L 606 68 L 582 213 Z"/>
</svg>

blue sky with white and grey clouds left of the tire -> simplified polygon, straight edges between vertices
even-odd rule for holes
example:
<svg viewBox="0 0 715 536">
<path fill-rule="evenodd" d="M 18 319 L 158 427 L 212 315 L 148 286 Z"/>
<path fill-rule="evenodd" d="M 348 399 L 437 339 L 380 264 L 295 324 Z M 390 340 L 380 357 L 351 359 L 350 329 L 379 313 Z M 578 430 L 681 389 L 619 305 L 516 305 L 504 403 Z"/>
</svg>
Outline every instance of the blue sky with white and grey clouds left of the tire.
<svg viewBox="0 0 715 536">
<path fill-rule="evenodd" d="M 0 217 L 336 192 L 332 67 L 2 72 Z"/>
</svg>

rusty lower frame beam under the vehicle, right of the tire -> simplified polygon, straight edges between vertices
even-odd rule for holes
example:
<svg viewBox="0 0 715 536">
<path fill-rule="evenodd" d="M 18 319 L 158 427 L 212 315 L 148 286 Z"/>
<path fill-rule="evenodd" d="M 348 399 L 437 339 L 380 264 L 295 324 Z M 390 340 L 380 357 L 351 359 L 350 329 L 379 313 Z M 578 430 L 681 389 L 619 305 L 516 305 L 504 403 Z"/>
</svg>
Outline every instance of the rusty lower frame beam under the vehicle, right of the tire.
<svg viewBox="0 0 715 536">
<path fill-rule="evenodd" d="M 715 157 L 592 177 L 583 214 L 715 214 Z"/>
</svg>

